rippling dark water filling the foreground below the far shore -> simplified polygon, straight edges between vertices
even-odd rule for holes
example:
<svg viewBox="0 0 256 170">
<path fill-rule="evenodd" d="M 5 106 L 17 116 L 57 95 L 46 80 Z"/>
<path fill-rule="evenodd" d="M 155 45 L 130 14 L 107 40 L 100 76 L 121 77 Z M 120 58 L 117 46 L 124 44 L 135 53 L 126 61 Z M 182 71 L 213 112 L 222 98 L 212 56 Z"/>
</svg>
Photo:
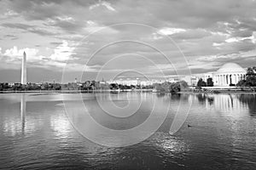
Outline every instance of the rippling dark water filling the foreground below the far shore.
<svg viewBox="0 0 256 170">
<path fill-rule="evenodd" d="M 156 119 L 165 121 L 138 144 L 108 147 L 76 130 L 84 126 L 94 134 L 83 119 L 70 121 L 62 99 L 73 103 L 74 117 L 84 111 L 76 105 L 82 99 L 94 120 L 109 129 L 138 127 L 153 108 Z M 110 104 L 138 109 L 109 115 Z M 175 116 L 186 116 L 189 104 L 182 126 L 170 133 Z M 113 141 L 107 137 L 100 136 L 108 145 Z M 256 95 L 0 94 L 0 169 L 256 169 Z"/>
</svg>

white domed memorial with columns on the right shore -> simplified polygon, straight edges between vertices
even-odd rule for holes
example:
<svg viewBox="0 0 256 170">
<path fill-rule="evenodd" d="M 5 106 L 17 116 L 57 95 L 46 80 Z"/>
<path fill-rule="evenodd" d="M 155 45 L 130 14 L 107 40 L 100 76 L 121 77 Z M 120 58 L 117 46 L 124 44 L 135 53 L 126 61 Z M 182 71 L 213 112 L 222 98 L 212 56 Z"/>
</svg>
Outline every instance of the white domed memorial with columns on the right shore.
<svg viewBox="0 0 256 170">
<path fill-rule="evenodd" d="M 202 78 L 205 82 L 209 77 L 212 78 L 214 86 L 226 87 L 236 85 L 237 82 L 245 79 L 247 71 L 236 63 L 227 63 L 222 65 L 218 71 L 208 72 L 201 76 L 196 75 L 197 79 Z"/>
</svg>

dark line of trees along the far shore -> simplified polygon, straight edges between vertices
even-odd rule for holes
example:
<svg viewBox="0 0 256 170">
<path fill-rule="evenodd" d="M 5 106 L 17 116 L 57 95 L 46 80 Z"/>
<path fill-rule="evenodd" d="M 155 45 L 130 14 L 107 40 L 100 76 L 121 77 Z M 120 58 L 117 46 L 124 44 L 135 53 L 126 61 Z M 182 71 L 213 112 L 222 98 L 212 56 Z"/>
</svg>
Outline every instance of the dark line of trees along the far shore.
<svg viewBox="0 0 256 170">
<path fill-rule="evenodd" d="M 196 88 L 201 87 L 212 87 L 214 85 L 212 77 L 207 78 L 207 82 L 199 79 L 196 84 Z M 232 84 L 230 84 L 231 86 Z M 256 87 L 256 66 L 248 67 L 245 79 L 239 81 L 236 84 L 237 87 Z M 153 85 L 141 86 L 141 85 L 122 85 L 118 83 L 107 82 L 96 82 L 96 81 L 86 81 L 86 82 L 69 82 L 67 84 L 61 83 L 27 83 L 26 85 L 21 83 L 15 83 L 10 85 L 8 82 L 0 83 L 0 91 L 29 91 L 29 90 L 106 90 L 106 89 L 156 89 L 159 92 L 165 93 L 177 93 L 183 89 L 188 88 L 188 83 L 184 81 L 180 82 L 164 82 L 164 83 L 154 83 Z"/>
</svg>

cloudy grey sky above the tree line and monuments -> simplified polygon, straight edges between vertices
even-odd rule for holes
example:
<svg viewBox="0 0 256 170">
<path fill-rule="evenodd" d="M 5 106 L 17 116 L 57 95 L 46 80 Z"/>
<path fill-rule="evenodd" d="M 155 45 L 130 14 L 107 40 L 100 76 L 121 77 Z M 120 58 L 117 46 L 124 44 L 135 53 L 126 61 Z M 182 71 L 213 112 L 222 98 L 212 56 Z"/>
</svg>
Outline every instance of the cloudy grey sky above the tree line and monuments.
<svg viewBox="0 0 256 170">
<path fill-rule="evenodd" d="M 256 65 L 255 0 L 0 0 L 0 82 L 168 78 Z"/>
</svg>

